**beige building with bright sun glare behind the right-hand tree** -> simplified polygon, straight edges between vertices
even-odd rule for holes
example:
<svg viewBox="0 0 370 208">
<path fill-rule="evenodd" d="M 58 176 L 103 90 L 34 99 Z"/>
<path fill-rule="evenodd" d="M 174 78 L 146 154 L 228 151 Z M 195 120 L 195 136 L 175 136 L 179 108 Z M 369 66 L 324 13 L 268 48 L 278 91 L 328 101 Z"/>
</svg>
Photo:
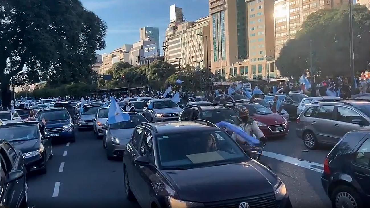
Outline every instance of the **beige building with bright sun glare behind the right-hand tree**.
<svg viewBox="0 0 370 208">
<path fill-rule="evenodd" d="M 295 34 L 306 21 L 307 16 L 319 9 L 331 9 L 348 0 L 276 0 L 275 11 L 275 57 L 286 41 L 295 38 Z"/>
</svg>

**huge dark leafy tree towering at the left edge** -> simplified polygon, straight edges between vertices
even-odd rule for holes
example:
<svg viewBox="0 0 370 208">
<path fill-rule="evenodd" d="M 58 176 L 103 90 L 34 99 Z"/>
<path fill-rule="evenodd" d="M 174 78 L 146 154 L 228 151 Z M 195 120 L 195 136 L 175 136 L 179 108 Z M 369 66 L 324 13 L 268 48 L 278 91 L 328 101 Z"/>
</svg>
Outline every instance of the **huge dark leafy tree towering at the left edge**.
<svg viewBox="0 0 370 208">
<path fill-rule="evenodd" d="M 3 0 L 0 6 L 0 89 L 9 105 L 10 79 L 50 84 L 85 80 L 107 26 L 79 0 Z"/>
</svg>

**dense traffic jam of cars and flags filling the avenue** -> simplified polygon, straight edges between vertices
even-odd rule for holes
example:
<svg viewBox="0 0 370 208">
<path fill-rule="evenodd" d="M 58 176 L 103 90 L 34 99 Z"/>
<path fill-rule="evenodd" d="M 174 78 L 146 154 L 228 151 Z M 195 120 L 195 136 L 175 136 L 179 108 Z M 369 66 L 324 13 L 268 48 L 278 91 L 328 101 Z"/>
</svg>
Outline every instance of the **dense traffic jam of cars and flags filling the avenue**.
<svg viewBox="0 0 370 208">
<path fill-rule="evenodd" d="M 369 206 L 365 97 L 177 99 L 16 101 L 0 111 L 0 207 Z"/>
</svg>

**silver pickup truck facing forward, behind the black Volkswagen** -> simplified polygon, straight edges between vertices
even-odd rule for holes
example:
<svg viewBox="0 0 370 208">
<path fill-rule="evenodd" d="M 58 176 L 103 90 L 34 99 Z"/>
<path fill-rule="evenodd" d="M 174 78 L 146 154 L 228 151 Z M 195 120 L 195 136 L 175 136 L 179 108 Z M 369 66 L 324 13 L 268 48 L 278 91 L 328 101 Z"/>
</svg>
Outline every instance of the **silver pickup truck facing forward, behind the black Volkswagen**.
<svg viewBox="0 0 370 208">
<path fill-rule="evenodd" d="M 150 122 L 177 121 L 182 109 L 169 98 L 153 99 L 143 107 L 143 115 Z"/>
</svg>

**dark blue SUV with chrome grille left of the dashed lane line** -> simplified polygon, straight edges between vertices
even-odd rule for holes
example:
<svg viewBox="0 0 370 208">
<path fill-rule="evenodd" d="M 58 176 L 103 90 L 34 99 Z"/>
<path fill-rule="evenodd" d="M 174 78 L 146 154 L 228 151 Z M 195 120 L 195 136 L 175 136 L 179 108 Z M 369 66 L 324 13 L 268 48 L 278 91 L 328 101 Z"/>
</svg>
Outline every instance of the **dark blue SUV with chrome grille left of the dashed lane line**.
<svg viewBox="0 0 370 208">
<path fill-rule="evenodd" d="M 73 118 L 64 107 L 52 107 L 43 110 L 37 121 L 46 121 L 46 136 L 51 140 L 75 142 Z"/>
</svg>

